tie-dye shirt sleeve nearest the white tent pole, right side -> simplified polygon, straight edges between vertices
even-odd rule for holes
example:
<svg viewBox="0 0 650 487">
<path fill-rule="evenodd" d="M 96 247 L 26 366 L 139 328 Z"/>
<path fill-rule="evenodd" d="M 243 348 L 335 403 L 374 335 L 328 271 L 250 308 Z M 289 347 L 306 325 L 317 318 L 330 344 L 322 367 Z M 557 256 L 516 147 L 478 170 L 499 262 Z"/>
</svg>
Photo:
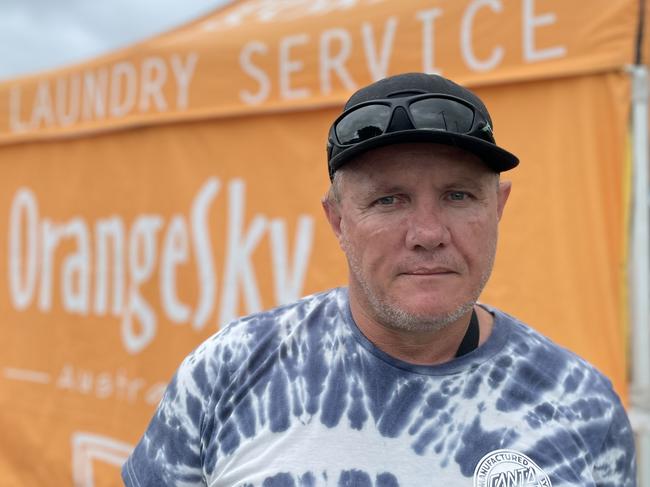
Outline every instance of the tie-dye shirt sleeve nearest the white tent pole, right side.
<svg viewBox="0 0 650 487">
<path fill-rule="evenodd" d="M 594 459 L 593 478 L 597 487 L 636 487 L 634 432 L 618 397 L 614 400 L 612 421 Z"/>
</svg>

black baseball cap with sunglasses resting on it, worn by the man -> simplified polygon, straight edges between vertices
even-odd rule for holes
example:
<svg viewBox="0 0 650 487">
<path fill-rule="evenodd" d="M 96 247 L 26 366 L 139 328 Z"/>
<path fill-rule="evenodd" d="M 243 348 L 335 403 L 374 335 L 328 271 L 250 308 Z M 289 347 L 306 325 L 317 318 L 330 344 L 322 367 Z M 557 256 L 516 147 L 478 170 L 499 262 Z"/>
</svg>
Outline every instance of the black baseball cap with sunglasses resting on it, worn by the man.
<svg viewBox="0 0 650 487">
<path fill-rule="evenodd" d="M 354 93 L 329 131 L 327 165 L 334 173 L 359 154 L 404 142 L 433 142 L 477 155 L 502 172 L 519 164 L 496 145 L 492 119 L 481 99 L 442 76 L 405 73 Z"/>
</svg>

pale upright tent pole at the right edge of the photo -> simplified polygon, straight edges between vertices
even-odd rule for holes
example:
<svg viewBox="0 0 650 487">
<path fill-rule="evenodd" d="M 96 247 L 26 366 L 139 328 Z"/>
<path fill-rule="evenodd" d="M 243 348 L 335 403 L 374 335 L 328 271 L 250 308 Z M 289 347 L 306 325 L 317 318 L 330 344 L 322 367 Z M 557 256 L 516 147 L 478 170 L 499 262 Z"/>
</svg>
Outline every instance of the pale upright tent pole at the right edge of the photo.
<svg viewBox="0 0 650 487">
<path fill-rule="evenodd" d="M 648 202 L 648 68 L 632 75 L 632 236 L 629 260 L 632 326 L 630 418 L 637 432 L 639 487 L 650 487 L 650 229 Z"/>
</svg>

